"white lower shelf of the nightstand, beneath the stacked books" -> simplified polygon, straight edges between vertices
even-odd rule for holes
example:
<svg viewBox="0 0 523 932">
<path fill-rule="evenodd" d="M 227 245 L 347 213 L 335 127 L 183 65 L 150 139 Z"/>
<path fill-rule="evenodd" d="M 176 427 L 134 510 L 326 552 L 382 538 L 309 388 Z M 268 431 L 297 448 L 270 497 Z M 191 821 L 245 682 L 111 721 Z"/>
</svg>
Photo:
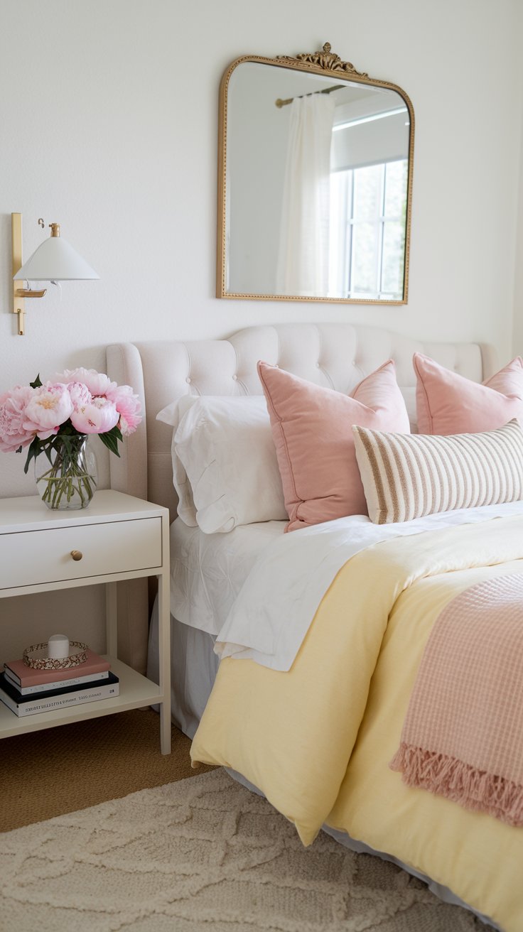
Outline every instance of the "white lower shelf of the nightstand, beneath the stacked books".
<svg viewBox="0 0 523 932">
<path fill-rule="evenodd" d="M 119 678 L 119 695 L 113 699 L 98 699 L 78 706 L 67 706 L 51 712 L 41 712 L 19 718 L 0 702 L 0 738 L 10 735 L 34 732 L 55 725 L 66 725 L 71 721 L 94 719 L 102 715 L 124 712 L 130 708 L 152 706 L 162 701 L 161 692 L 156 683 L 143 677 L 120 660 L 109 657 L 111 670 Z M 159 728 L 159 718 L 158 718 Z"/>
</svg>

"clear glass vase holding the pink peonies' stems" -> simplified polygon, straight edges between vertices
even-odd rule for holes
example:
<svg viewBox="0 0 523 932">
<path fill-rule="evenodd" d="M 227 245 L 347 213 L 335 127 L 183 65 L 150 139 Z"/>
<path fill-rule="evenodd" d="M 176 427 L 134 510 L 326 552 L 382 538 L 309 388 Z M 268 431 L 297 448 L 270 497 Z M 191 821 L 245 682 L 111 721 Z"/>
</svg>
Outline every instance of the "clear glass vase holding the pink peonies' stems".
<svg viewBox="0 0 523 932">
<path fill-rule="evenodd" d="M 57 434 L 48 451 L 34 460 L 34 479 L 38 495 L 51 510 L 87 508 L 98 483 L 89 436 Z"/>
</svg>

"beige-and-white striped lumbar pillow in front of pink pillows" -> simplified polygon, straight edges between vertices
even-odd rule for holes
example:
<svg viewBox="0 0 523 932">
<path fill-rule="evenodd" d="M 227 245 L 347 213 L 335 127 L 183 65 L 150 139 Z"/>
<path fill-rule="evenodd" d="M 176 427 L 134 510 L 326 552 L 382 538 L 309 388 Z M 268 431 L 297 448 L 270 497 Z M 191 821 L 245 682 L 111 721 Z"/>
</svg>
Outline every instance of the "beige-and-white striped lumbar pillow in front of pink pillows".
<svg viewBox="0 0 523 932">
<path fill-rule="evenodd" d="M 368 514 L 375 524 L 523 499 L 523 432 L 385 433 L 353 427 Z"/>
</svg>

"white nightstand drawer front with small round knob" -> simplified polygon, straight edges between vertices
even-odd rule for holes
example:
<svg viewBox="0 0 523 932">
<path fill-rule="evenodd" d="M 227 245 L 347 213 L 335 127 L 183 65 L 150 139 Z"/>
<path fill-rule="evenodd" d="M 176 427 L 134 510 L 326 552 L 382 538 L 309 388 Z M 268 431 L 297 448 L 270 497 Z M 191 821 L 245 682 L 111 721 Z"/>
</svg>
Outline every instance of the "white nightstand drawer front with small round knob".
<svg viewBox="0 0 523 932">
<path fill-rule="evenodd" d="M 160 517 L 0 536 L 4 589 L 153 569 L 161 562 Z"/>
</svg>

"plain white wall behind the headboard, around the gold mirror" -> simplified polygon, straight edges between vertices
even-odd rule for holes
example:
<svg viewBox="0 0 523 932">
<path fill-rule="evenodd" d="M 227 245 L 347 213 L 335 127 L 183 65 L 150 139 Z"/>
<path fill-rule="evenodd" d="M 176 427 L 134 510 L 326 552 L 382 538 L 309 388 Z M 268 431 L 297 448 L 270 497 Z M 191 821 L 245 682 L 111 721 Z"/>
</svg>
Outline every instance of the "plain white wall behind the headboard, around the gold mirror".
<svg viewBox="0 0 523 932">
<path fill-rule="evenodd" d="M 1 7 L 0 391 L 64 366 L 103 369 L 104 347 L 116 340 L 225 336 L 258 322 L 368 322 L 426 339 L 488 340 L 508 356 L 523 99 L 518 0 Z M 218 301 L 220 77 L 242 54 L 296 54 L 325 41 L 404 88 L 414 105 L 408 305 Z M 24 337 L 9 313 L 12 211 L 23 213 L 25 257 L 42 239 L 43 216 L 62 224 L 101 276 L 64 284 L 61 302 L 26 302 Z M 22 465 L 0 454 L 0 496 L 33 494 Z M 49 605 L 40 596 L 22 614 Z"/>
</svg>

